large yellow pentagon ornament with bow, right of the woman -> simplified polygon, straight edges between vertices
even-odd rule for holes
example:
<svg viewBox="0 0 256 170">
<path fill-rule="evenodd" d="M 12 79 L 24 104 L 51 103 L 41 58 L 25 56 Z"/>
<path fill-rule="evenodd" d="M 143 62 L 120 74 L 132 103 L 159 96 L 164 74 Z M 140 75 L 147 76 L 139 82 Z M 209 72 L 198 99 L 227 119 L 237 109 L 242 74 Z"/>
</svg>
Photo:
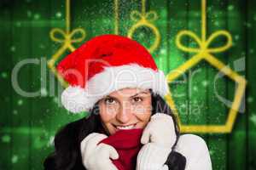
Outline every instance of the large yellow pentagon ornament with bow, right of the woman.
<svg viewBox="0 0 256 170">
<path fill-rule="evenodd" d="M 182 133 L 230 133 L 236 121 L 237 112 L 241 105 L 241 99 L 245 92 L 247 81 L 241 77 L 236 71 L 233 71 L 227 65 L 224 65 L 223 62 L 215 58 L 212 53 L 220 53 L 232 46 L 232 37 L 228 31 L 216 31 L 207 38 L 207 12 L 206 12 L 206 0 L 201 0 L 201 39 L 195 35 L 193 31 L 183 30 L 177 34 L 176 44 L 177 48 L 180 48 L 184 52 L 196 53 L 191 59 L 185 62 L 183 65 L 179 66 L 175 72 L 169 73 L 166 76 L 168 82 L 174 81 L 177 77 L 180 77 L 185 71 L 188 71 L 191 67 L 198 64 L 201 60 L 207 60 L 207 62 L 213 67 L 217 68 L 218 71 L 224 73 L 225 76 L 229 77 L 231 80 L 235 81 L 238 84 L 236 88 L 235 98 L 231 105 L 230 111 L 228 113 L 228 118 L 224 125 L 185 125 L 182 124 L 178 116 L 178 111 L 175 107 L 174 100 L 172 99 L 172 94 L 167 94 L 165 96 L 167 103 L 172 107 L 174 113 L 177 115 L 177 122 L 179 123 L 180 130 Z M 182 37 L 191 37 L 197 42 L 199 48 L 189 48 L 185 47 L 181 39 Z M 224 36 L 227 38 L 227 43 L 218 48 L 209 48 L 211 42 L 216 38 Z"/>
</svg>

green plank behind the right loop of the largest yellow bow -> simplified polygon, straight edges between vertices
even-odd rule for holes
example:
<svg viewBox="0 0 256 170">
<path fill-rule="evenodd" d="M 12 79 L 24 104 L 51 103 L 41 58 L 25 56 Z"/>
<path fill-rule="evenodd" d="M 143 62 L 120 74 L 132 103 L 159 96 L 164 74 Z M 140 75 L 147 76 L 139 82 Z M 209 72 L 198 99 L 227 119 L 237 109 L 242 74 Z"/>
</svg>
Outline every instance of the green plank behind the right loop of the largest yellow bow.
<svg viewBox="0 0 256 170">
<path fill-rule="evenodd" d="M 207 1 L 207 37 L 219 30 L 227 29 L 225 20 L 225 5 L 216 1 Z M 209 48 L 216 48 L 224 44 L 224 39 L 217 38 L 212 41 Z M 224 62 L 226 52 L 213 54 L 215 58 Z M 207 122 L 208 124 L 224 125 L 229 110 L 223 102 L 218 99 L 218 95 L 226 97 L 227 77 L 219 77 L 220 71 L 209 66 L 207 70 Z M 209 134 L 207 146 L 212 159 L 212 169 L 227 169 L 227 140 L 226 134 Z"/>
</svg>

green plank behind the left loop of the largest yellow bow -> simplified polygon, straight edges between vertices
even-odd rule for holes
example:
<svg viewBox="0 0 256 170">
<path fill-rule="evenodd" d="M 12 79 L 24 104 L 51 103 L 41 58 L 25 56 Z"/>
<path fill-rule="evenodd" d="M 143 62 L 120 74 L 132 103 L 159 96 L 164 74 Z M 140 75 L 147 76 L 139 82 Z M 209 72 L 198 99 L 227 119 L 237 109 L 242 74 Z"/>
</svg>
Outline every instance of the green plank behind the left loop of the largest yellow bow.
<svg viewBox="0 0 256 170">
<path fill-rule="evenodd" d="M 183 65 L 188 59 L 189 54 L 177 48 L 175 43 L 177 33 L 182 30 L 189 29 L 189 6 L 183 1 L 168 1 L 168 26 L 167 26 L 167 56 L 169 74 L 178 72 L 177 68 Z M 178 8 L 178 10 L 177 10 Z M 186 40 L 185 45 L 189 45 Z M 189 73 L 183 73 L 181 77 L 170 83 L 172 98 L 175 102 L 180 120 L 183 124 L 189 123 Z"/>
</svg>

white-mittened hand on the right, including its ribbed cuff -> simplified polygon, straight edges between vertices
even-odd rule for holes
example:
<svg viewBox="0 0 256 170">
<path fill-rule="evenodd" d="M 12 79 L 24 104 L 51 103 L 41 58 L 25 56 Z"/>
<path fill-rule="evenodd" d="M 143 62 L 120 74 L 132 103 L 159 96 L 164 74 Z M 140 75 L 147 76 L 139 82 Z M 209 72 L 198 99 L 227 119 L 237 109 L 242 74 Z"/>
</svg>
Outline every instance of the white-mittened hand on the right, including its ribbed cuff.
<svg viewBox="0 0 256 170">
<path fill-rule="evenodd" d="M 143 130 L 143 148 L 137 156 L 137 170 L 168 170 L 167 157 L 176 142 L 175 125 L 172 116 L 156 113 Z"/>
</svg>

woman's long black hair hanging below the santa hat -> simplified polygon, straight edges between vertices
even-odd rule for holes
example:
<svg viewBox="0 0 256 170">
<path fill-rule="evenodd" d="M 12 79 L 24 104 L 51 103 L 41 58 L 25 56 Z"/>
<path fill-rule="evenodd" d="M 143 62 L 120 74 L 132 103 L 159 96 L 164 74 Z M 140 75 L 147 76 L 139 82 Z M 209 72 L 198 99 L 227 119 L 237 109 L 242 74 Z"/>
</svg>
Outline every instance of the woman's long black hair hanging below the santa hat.
<svg viewBox="0 0 256 170">
<path fill-rule="evenodd" d="M 159 94 L 151 92 L 152 98 L 152 115 L 157 112 L 172 116 L 175 124 L 175 133 L 177 139 L 179 137 L 179 129 L 177 119 L 172 113 L 171 108 Z M 99 116 L 99 107 L 94 105 L 90 111 L 90 116 L 84 117 L 78 121 L 68 123 L 62 127 L 55 135 L 55 151 L 51 153 L 44 161 L 45 170 L 85 170 L 82 164 L 82 156 L 80 152 L 80 143 L 90 133 L 102 133 L 104 128 Z M 172 146 L 175 148 L 176 143 Z M 186 159 L 181 154 L 172 150 L 166 161 L 169 169 L 183 170 Z"/>
</svg>

